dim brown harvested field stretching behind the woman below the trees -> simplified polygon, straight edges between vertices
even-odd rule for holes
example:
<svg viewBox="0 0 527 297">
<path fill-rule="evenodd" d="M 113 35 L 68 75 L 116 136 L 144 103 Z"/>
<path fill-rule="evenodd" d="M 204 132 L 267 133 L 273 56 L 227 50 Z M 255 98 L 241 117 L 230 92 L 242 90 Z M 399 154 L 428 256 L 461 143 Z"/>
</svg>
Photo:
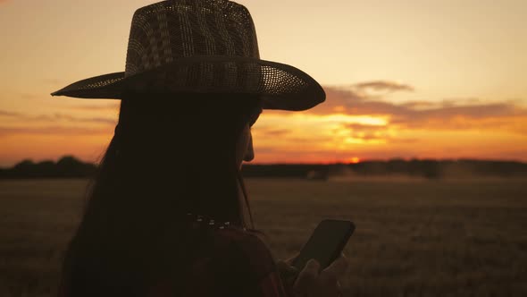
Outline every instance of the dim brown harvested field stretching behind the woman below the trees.
<svg viewBox="0 0 527 297">
<path fill-rule="evenodd" d="M 53 296 L 84 180 L 0 181 L 0 296 Z M 521 180 L 247 180 L 276 258 L 326 217 L 356 223 L 346 296 L 527 296 Z"/>
</svg>

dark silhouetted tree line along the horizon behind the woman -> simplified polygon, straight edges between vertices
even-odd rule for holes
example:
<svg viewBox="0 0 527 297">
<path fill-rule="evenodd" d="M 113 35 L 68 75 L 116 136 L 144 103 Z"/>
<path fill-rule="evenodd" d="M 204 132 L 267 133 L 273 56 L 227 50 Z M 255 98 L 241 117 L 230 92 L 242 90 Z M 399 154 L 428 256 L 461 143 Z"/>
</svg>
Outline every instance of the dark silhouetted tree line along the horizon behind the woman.
<svg viewBox="0 0 527 297">
<path fill-rule="evenodd" d="M 96 174 L 96 165 L 85 163 L 76 157 L 65 156 L 58 161 L 35 163 L 23 160 L 11 168 L 0 168 L 0 179 L 26 178 L 88 178 Z M 206 170 L 206 168 L 203 168 Z M 245 177 L 282 177 L 326 180 L 331 176 L 380 176 L 406 175 L 439 179 L 464 176 L 527 176 L 527 164 L 516 161 L 493 160 L 436 160 L 436 159 L 390 159 L 387 161 L 364 161 L 357 164 L 246 164 Z"/>
</svg>

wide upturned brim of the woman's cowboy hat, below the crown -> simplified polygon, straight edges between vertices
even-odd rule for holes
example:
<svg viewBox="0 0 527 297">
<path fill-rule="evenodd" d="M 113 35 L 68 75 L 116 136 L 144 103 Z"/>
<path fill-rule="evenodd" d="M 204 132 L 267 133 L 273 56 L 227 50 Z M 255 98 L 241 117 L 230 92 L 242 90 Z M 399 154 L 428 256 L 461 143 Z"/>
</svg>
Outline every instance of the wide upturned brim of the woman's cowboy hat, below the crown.
<svg viewBox="0 0 527 297">
<path fill-rule="evenodd" d="M 301 111 L 322 103 L 322 86 L 288 64 L 249 57 L 195 55 L 125 76 L 114 72 L 77 81 L 52 96 L 122 99 L 126 93 L 259 95 L 264 109 Z"/>
</svg>

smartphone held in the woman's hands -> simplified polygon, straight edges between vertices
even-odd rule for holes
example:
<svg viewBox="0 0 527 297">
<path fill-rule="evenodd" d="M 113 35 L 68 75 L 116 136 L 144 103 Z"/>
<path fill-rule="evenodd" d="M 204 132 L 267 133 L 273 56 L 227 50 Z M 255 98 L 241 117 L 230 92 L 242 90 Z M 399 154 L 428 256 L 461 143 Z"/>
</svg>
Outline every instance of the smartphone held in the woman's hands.
<svg viewBox="0 0 527 297">
<path fill-rule="evenodd" d="M 322 220 L 305 242 L 297 258 L 293 259 L 292 266 L 301 271 L 309 259 L 316 259 L 322 271 L 339 258 L 354 231 L 355 225 L 351 221 Z"/>
</svg>

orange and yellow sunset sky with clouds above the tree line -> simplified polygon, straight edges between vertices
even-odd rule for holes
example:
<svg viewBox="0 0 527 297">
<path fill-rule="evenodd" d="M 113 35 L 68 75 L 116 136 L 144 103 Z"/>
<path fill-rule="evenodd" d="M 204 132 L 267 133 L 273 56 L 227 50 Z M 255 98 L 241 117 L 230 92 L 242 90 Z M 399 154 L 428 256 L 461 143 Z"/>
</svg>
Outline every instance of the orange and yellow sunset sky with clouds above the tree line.
<svg viewBox="0 0 527 297">
<path fill-rule="evenodd" d="M 124 71 L 131 16 L 152 3 L 0 0 L 0 166 L 101 157 L 119 101 L 49 93 Z M 527 1 L 238 3 L 261 57 L 309 73 L 327 94 L 308 112 L 264 111 L 255 163 L 527 162 Z"/>
</svg>

